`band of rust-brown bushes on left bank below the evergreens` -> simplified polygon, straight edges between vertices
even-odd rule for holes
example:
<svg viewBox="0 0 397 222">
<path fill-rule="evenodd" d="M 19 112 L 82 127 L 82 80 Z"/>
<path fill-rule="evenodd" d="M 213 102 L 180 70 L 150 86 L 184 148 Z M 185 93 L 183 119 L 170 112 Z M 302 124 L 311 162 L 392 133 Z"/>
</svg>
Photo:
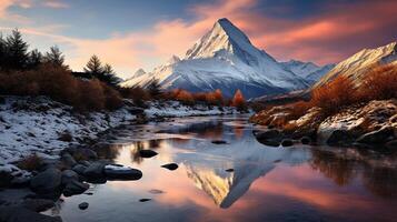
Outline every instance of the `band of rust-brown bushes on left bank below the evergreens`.
<svg viewBox="0 0 397 222">
<path fill-rule="evenodd" d="M 122 100 L 118 91 L 99 80 L 81 80 L 57 65 L 0 73 L 0 93 L 47 95 L 79 111 L 117 109 Z"/>
</svg>

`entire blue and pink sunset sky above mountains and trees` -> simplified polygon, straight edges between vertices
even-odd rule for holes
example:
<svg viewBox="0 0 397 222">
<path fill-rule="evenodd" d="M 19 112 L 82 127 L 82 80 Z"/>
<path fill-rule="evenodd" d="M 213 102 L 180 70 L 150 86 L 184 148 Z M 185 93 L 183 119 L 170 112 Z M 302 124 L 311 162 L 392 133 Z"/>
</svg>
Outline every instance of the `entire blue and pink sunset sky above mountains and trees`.
<svg viewBox="0 0 397 222">
<path fill-rule="evenodd" d="M 397 0 L 0 0 L 0 31 L 58 46 L 82 70 L 92 54 L 121 78 L 183 57 L 220 18 L 279 61 L 339 62 L 397 40 Z"/>
</svg>

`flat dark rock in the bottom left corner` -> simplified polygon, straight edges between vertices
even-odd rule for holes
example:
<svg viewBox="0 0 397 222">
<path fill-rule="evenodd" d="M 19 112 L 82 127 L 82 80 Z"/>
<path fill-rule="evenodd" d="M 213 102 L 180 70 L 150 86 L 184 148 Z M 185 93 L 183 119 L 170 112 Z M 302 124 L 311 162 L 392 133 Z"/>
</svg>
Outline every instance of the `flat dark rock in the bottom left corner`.
<svg viewBox="0 0 397 222">
<path fill-rule="evenodd" d="M 59 216 L 37 213 L 23 206 L 1 206 L 0 221 L 4 222 L 61 222 Z"/>
</svg>

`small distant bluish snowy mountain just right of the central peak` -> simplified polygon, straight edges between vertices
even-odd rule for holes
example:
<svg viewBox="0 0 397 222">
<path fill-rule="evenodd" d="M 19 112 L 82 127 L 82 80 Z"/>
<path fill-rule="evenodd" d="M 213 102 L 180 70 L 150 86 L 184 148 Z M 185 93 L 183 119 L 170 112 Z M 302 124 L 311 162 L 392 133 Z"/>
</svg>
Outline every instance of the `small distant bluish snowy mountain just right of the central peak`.
<svg viewBox="0 0 397 222">
<path fill-rule="evenodd" d="M 290 60 L 288 62 L 281 63 L 287 70 L 304 78 L 310 84 L 317 82 L 322 75 L 325 75 L 335 67 L 335 64 L 319 67 L 312 62 L 302 62 L 298 60 Z"/>
</svg>

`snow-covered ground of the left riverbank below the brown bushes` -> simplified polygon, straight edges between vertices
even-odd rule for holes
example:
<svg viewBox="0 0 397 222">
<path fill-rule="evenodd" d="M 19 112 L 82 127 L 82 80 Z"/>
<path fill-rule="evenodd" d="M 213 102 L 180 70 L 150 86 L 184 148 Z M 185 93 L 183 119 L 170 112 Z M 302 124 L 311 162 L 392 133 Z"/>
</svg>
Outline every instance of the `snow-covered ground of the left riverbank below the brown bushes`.
<svg viewBox="0 0 397 222">
<path fill-rule="evenodd" d="M 12 164 L 32 153 L 42 158 L 59 158 L 62 149 L 79 144 L 83 139 L 96 139 L 98 133 L 136 119 L 132 107 L 112 112 L 91 112 L 81 114 L 71 107 L 48 98 L 7 97 L 0 104 L 0 172 L 16 172 Z M 235 109 L 187 107 L 179 102 L 151 102 L 146 115 L 188 117 L 230 114 Z M 68 137 L 71 135 L 71 141 Z M 62 139 L 63 137 L 63 139 Z"/>
</svg>

